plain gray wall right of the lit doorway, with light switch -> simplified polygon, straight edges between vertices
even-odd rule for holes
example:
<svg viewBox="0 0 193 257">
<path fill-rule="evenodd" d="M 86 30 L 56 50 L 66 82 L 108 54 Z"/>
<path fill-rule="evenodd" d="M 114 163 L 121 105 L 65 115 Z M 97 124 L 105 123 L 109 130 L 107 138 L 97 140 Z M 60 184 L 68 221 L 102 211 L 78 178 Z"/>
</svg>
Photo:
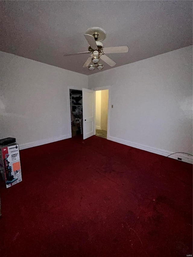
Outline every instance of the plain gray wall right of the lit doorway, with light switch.
<svg viewBox="0 0 193 257">
<path fill-rule="evenodd" d="M 88 76 L 111 86 L 111 140 L 150 152 L 192 153 L 192 46 Z"/>
</svg>

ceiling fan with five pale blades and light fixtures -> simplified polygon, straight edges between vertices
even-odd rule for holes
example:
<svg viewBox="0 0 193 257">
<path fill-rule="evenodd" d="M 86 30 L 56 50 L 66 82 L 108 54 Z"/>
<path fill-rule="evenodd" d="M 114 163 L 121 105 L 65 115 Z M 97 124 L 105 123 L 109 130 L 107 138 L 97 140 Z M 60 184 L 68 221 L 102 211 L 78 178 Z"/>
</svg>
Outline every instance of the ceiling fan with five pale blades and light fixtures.
<svg viewBox="0 0 193 257">
<path fill-rule="evenodd" d="M 90 53 L 91 55 L 82 66 L 82 67 L 88 67 L 90 71 L 95 70 L 95 68 L 97 68 L 98 70 L 103 69 L 104 67 L 103 64 L 99 63 L 100 60 L 103 60 L 111 67 L 115 66 L 116 62 L 110 59 L 106 54 L 127 53 L 129 51 L 129 48 L 127 45 L 104 48 L 104 45 L 101 41 L 105 40 L 106 31 L 101 28 L 92 27 L 86 31 L 84 36 L 89 44 L 88 51 L 75 53 L 75 54 L 67 54 L 64 56 L 81 55 L 81 54 Z"/>
</svg>

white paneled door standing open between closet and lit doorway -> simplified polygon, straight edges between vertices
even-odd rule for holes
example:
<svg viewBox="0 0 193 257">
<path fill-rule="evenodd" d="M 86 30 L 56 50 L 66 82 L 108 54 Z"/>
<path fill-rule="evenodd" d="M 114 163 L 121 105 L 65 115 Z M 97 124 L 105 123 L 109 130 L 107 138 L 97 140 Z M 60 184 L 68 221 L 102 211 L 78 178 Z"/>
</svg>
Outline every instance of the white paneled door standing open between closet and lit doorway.
<svg viewBox="0 0 193 257">
<path fill-rule="evenodd" d="M 95 135 L 95 91 L 82 89 L 83 139 Z"/>
</svg>

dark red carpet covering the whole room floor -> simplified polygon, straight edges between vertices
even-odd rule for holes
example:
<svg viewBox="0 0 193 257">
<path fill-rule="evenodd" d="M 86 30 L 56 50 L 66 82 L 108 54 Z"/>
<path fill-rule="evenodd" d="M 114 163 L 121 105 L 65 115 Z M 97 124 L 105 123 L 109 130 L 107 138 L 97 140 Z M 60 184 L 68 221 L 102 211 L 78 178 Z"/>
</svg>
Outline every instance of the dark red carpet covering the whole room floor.
<svg viewBox="0 0 193 257">
<path fill-rule="evenodd" d="M 100 137 L 21 151 L 1 183 L 0 256 L 192 254 L 192 165 Z"/>
</svg>

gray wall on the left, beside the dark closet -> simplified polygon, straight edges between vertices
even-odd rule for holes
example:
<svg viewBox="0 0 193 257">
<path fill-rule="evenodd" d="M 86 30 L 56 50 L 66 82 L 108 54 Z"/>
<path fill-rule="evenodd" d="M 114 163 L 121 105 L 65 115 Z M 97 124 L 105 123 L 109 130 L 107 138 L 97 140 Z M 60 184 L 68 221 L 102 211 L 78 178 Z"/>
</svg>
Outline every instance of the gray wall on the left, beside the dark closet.
<svg viewBox="0 0 193 257">
<path fill-rule="evenodd" d="M 0 138 L 21 149 L 68 138 L 68 87 L 87 88 L 87 76 L 5 52 L 0 60 Z"/>
</svg>

